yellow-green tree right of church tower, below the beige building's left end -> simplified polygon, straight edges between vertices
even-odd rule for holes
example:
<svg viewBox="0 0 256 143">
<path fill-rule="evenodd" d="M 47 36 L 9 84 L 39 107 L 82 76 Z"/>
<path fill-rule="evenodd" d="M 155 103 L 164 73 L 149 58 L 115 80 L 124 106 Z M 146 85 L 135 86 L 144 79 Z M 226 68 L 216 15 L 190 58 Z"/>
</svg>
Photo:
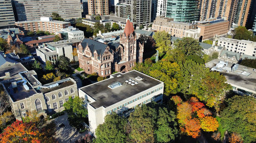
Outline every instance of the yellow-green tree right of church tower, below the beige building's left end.
<svg viewBox="0 0 256 143">
<path fill-rule="evenodd" d="M 156 32 L 153 38 L 156 41 L 157 50 L 159 50 L 159 52 L 166 52 L 171 48 L 170 35 L 167 32 Z"/>
</svg>

